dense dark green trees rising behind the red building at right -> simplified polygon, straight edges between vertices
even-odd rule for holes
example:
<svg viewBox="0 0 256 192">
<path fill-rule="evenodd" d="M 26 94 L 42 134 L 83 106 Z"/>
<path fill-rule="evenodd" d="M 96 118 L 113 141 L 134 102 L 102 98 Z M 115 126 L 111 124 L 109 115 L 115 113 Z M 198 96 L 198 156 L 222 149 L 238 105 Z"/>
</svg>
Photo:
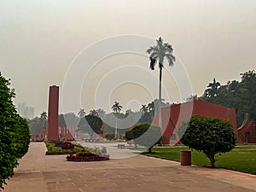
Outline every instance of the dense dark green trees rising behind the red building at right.
<svg viewBox="0 0 256 192">
<path fill-rule="evenodd" d="M 252 119 L 256 122 L 255 84 L 256 73 L 254 70 L 241 73 L 241 82 L 233 80 L 220 85 L 214 79 L 208 85 L 201 99 L 227 108 L 235 108 L 237 125 L 241 125 L 245 113 L 250 113 Z"/>
</svg>

